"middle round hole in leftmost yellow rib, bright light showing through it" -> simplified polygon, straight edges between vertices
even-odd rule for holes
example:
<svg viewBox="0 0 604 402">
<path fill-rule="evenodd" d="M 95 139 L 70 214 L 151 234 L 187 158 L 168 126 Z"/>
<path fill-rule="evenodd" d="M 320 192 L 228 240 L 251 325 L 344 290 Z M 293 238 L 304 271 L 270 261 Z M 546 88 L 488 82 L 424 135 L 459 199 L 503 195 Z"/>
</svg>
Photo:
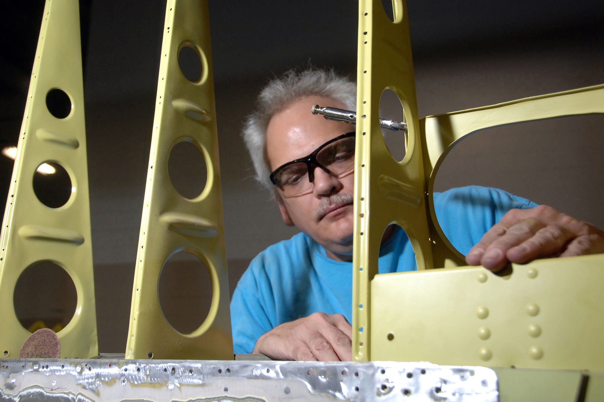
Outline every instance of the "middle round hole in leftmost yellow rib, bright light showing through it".
<svg viewBox="0 0 604 402">
<path fill-rule="evenodd" d="M 38 200 L 50 208 L 65 205 L 76 190 L 69 173 L 57 162 L 40 164 L 33 177 L 34 193 Z"/>
</svg>

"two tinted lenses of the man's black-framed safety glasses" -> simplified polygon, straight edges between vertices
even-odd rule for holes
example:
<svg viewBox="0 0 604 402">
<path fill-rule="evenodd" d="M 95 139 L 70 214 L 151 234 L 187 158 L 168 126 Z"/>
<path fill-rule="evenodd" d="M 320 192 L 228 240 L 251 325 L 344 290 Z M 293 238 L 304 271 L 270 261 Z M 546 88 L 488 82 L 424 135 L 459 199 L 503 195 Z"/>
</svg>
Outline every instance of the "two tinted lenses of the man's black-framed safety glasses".
<svg viewBox="0 0 604 402">
<path fill-rule="evenodd" d="M 355 165 L 355 138 L 342 138 L 322 148 L 316 155 L 318 164 L 337 176 L 352 170 Z M 291 164 L 279 171 L 275 180 L 284 196 L 295 196 L 312 188 L 306 162 Z"/>
</svg>

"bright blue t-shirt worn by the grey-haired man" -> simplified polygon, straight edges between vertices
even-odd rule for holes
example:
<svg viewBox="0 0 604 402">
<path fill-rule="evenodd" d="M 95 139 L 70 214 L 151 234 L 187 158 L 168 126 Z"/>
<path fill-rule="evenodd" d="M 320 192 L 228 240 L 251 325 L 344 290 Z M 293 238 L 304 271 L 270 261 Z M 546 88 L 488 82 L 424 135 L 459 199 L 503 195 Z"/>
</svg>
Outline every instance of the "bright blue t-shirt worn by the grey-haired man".
<svg viewBox="0 0 604 402">
<path fill-rule="evenodd" d="M 440 227 L 464 255 L 507 211 L 535 206 L 495 188 L 434 193 Z M 412 270 L 417 270 L 413 247 L 399 228 L 380 248 L 378 271 Z M 352 322 L 352 263 L 330 259 L 323 246 L 298 233 L 257 255 L 239 280 L 231 301 L 235 353 L 252 353 L 258 338 L 272 328 L 317 311 L 343 314 Z"/>
</svg>

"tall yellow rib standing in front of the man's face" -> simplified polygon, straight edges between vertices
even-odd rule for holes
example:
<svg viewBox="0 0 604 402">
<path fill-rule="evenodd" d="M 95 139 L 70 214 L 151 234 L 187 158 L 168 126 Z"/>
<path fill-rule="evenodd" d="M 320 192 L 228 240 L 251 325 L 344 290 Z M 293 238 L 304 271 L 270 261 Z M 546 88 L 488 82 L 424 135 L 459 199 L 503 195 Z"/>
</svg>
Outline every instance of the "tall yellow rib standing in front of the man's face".
<svg viewBox="0 0 604 402">
<path fill-rule="evenodd" d="M 432 247 L 444 245 L 427 219 L 428 176 L 424 173 L 406 5 L 400 0 L 393 4 L 394 23 L 380 0 L 359 1 L 352 312 L 356 361 L 370 359 L 368 323 L 373 309 L 369 286 L 377 273 L 379 244 L 388 224 L 396 222 L 405 229 L 420 270 L 434 266 Z M 399 96 L 408 125 L 406 155 L 400 163 L 388 152 L 379 126 L 384 89 Z M 461 261 L 446 248 L 436 255 L 442 257 L 437 266 L 443 266 L 445 258 Z"/>
</svg>

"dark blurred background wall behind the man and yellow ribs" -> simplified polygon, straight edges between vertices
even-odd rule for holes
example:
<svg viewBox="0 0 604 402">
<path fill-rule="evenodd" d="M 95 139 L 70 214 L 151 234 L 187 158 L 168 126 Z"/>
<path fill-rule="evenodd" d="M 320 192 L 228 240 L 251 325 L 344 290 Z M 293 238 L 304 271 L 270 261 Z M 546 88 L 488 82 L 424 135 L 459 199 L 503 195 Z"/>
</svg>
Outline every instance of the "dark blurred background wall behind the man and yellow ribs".
<svg viewBox="0 0 604 402">
<path fill-rule="evenodd" d="M 0 147 L 16 145 L 42 0 L 0 2 Z M 210 1 L 231 289 L 296 231 L 251 178 L 239 132 L 260 88 L 312 63 L 356 76 L 358 4 Z M 82 0 L 92 241 L 102 352 L 126 345 L 165 1 Z M 408 0 L 420 116 L 604 83 L 604 2 Z M 480 184 L 604 227 L 602 116 L 485 130 L 460 142 L 437 190 Z M 0 203 L 13 162 L 0 156 Z M 0 205 L 1 206 L 1 205 Z M 252 212 L 253 211 L 253 212 Z"/>
</svg>

